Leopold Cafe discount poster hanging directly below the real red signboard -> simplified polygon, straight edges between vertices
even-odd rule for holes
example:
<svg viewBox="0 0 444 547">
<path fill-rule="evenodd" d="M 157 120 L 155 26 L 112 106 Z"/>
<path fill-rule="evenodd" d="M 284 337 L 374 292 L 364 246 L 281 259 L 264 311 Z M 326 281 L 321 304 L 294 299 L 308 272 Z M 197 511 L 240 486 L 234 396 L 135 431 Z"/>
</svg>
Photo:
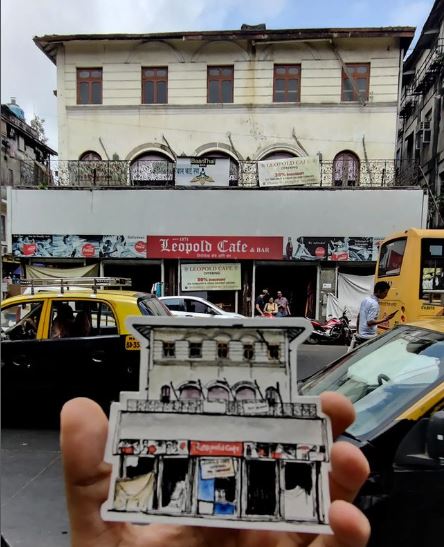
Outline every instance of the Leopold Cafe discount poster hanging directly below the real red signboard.
<svg viewBox="0 0 444 547">
<path fill-rule="evenodd" d="M 239 291 L 240 264 L 181 264 L 183 291 Z"/>
</svg>

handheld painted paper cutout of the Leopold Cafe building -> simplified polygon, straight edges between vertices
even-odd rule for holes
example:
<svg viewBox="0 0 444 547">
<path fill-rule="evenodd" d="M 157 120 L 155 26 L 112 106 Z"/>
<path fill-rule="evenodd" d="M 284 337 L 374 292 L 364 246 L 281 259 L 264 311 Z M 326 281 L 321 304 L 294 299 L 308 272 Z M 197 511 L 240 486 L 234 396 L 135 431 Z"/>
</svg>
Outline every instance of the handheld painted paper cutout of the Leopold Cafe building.
<svg viewBox="0 0 444 547">
<path fill-rule="evenodd" d="M 330 424 L 296 393 L 302 319 L 131 319 L 140 391 L 110 416 L 105 520 L 328 530 Z"/>
</svg>

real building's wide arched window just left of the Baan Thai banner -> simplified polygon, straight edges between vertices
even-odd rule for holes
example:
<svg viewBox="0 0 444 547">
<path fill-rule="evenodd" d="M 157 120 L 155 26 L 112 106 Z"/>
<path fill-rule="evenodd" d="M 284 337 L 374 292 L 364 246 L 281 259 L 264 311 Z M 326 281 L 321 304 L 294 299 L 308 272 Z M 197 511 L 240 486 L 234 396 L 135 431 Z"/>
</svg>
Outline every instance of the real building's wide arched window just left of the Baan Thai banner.
<svg viewBox="0 0 444 547">
<path fill-rule="evenodd" d="M 160 152 L 147 152 L 131 163 L 130 174 L 133 186 L 172 186 L 174 162 Z"/>
</svg>

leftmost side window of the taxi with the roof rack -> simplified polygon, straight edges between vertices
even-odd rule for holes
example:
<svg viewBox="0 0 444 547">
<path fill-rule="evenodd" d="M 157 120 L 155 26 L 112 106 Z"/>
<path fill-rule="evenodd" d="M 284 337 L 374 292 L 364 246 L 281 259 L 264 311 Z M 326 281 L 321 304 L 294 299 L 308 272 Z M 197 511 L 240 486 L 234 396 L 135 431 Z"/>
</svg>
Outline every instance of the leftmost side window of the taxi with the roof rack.
<svg viewBox="0 0 444 547">
<path fill-rule="evenodd" d="M 23 302 L 2 309 L 2 338 L 32 340 L 37 336 L 43 302 Z"/>
</svg>

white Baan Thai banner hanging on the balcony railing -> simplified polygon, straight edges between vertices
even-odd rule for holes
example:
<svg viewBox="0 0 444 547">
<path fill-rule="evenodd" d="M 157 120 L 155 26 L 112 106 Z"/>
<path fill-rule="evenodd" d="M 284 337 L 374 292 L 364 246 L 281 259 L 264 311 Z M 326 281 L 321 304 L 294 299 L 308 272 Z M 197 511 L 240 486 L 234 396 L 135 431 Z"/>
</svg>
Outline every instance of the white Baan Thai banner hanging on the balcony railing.
<svg viewBox="0 0 444 547">
<path fill-rule="evenodd" d="M 229 186 L 230 160 L 177 158 L 176 186 Z"/>
</svg>

